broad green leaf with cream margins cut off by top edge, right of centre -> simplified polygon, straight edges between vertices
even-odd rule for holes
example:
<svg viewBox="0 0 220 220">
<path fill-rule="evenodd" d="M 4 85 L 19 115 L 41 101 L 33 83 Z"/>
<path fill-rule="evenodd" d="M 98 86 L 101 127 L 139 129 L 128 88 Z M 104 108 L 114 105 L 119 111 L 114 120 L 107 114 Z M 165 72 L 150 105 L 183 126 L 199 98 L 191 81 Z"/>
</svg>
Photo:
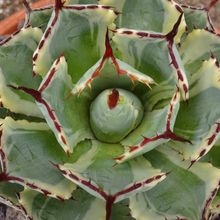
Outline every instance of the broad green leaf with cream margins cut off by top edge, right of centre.
<svg viewBox="0 0 220 220">
<path fill-rule="evenodd" d="M 181 7 L 174 1 L 163 0 L 100 0 L 100 4 L 112 6 L 119 12 L 117 26 L 136 30 L 152 30 L 160 33 L 168 33 L 178 17 L 182 13 Z M 179 41 L 185 29 L 184 18 L 181 20 L 179 33 L 176 40 Z"/>
</svg>

